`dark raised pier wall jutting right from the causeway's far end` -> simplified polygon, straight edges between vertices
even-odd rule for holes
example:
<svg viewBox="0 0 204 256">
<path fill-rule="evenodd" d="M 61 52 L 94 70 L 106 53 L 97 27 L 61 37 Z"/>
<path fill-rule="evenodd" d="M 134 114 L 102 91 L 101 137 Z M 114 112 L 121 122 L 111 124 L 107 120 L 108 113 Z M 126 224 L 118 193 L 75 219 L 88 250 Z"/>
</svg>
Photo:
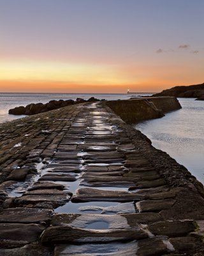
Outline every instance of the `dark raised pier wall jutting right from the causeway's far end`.
<svg viewBox="0 0 204 256">
<path fill-rule="evenodd" d="M 181 108 L 175 97 L 110 100 L 105 104 L 129 124 L 159 118 L 166 112 Z"/>
</svg>

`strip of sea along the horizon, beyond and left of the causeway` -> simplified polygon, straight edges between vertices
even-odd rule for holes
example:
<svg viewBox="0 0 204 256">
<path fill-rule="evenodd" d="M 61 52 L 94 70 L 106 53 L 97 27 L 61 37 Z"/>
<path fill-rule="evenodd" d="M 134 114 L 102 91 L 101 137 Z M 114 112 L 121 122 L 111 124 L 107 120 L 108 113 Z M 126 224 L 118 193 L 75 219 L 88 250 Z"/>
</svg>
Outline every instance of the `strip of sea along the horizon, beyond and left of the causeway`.
<svg viewBox="0 0 204 256">
<path fill-rule="evenodd" d="M 26 106 L 31 103 L 47 103 L 50 100 L 76 100 L 77 98 L 89 99 L 95 97 L 97 99 L 117 100 L 129 99 L 132 96 L 147 96 L 149 93 L 0 93 L 0 123 L 21 118 L 23 116 L 8 115 L 8 110 L 17 106 Z"/>
</svg>

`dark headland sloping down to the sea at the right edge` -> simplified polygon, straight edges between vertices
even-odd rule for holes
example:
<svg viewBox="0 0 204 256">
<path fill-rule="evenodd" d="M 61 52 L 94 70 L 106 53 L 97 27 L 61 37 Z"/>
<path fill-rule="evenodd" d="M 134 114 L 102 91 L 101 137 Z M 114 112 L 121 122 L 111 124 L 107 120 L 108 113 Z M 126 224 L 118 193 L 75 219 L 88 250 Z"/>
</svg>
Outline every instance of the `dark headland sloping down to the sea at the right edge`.
<svg viewBox="0 0 204 256">
<path fill-rule="evenodd" d="M 204 97 L 204 83 L 189 86 L 175 86 L 173 88 L 163 90 L 160 93 L 152 95 L 158 96 L 171 96 L 180 98 L 203 98 Z"/>
</svg>

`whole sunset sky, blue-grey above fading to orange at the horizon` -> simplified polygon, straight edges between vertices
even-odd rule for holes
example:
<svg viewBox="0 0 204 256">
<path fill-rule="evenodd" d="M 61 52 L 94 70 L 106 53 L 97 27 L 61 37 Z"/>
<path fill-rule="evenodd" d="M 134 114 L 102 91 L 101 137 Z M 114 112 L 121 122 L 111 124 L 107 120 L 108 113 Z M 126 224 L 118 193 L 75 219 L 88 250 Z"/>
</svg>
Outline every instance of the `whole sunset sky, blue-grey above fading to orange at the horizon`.
<svg viewBox="0 0 204 256">
<path fill-rule="evenodd" d="M 204 82 L 203 0 L 0 0 L 0 92 Z"/>
</svg>

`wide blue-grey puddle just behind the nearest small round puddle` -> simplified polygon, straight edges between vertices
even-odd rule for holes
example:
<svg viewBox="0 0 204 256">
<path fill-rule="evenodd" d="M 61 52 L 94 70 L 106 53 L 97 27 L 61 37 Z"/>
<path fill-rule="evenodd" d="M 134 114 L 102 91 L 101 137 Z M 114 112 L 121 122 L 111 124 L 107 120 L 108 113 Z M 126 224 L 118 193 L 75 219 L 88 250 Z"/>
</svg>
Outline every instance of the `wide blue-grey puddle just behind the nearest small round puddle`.
<svg viewBox="0 0 204 256">
<path fill-rule="evenodd" d="M 94 213 L 100 214 L 103 210 L 100 207 L 108 207 L 118 205 L 118 202 L 86 202 L 86 203 L 72 203 L 69 201 L 67 204 L 62 205 L 55 209 L 57 213 Z M 87 207 L 87 210 L 80 210 L 80 207 Z M 89 209 L 89 207 L 91 207 Z M 95 207 L 95 209 L 94 209 Z M 99 207 L 99 208 L 98 208 Z M 113 212 L 108 212 L 108 214 L 114 214 Z"/>
</svg>

